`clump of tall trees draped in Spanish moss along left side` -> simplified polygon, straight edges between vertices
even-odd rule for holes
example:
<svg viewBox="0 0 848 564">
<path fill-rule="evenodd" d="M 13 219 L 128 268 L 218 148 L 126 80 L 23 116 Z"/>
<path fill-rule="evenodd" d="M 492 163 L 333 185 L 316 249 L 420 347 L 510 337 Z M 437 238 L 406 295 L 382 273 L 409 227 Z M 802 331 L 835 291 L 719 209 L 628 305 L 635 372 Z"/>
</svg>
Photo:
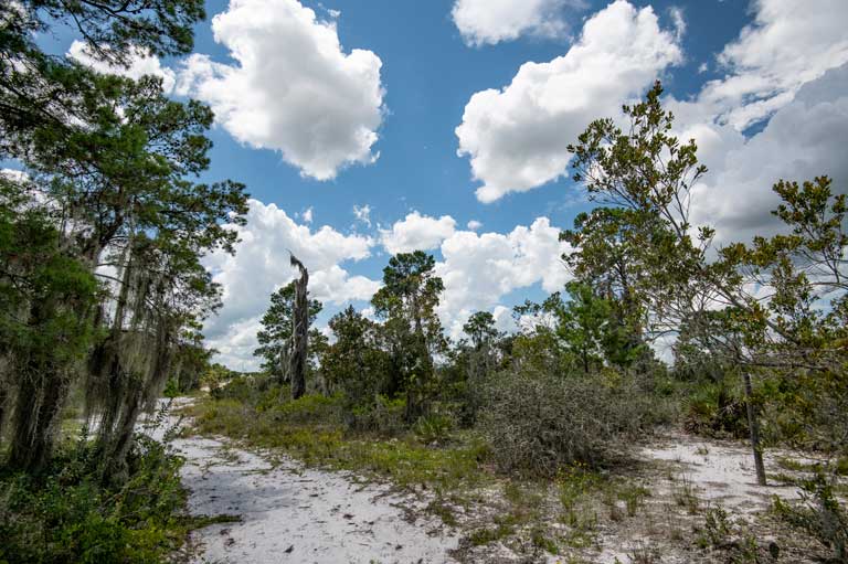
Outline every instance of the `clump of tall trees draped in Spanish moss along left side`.
<svg viewBox="0 0 848 564">
<path fill-rule="evenodd" d="M 200 257 L 232 252 L 237 234 L 224 223 L 243 224 L 246 212 L 242 184 L 191 180 L 209 166 L 208 107 L 169 99 L 158 78 L 100 75 L 46 54 L 34 36 L 70 25 L 95 58 L 126 66 L 138 54 L 190 52 L 192 25 L 203 18 L 199 0 L 0 6 L 0 157 L 20 161 L 31 179 L 25 189 L 4 190 L 2 205 L 40 214 L 39 237 L 52 246 L 26 243 L 52 265 L 50 284 L 36 284 L 39 269 L 17 264 L 19 252 L 7 255 L 0 280 L 19 324 L 4 324 L 0 336 L 8 343 L 0 395 L 17 396 L 9 449 L 15 467 L 35 470 L 49 459 L 56 414 L 81 372 L 89 412 L 103 411 L 104 456 L 120 464 L 139 408 L 163 385 L 180 332 L 218 304 Z M 8 240 L 7 249 L 20 242 Z M 22 275 L 33 284 L 21 285 Z M 7 286 L 25 291 L 6 292 Z M 26 342 L 34 352 L 35 342 L 19 339 L 21 327 L 47 337 L 45 323 L 59 329 L 56 322 L 64 334 L 53 338 L 76 353 L 22 353 Z M 91 352 L 87 371 L 83 349 Z"/>
</svg>

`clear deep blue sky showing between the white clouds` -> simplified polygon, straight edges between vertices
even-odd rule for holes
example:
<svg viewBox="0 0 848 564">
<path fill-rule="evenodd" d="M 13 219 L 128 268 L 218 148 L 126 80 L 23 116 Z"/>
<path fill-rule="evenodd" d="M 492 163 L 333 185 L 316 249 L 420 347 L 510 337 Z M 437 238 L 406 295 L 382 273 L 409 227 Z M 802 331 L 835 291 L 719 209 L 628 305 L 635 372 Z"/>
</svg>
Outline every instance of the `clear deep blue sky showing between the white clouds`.
<svg viewBox="0 0 848 564">
<path fill-rule="evenodd" d="M 209 2 L 209 14 L 222 12 L 226 6 Z M 317 2 L 304 6 L 327 17 Z M 346 50 L 367 49 L 382 60 L 386 116 L 374 145 L 380 152 L 378 162 L 349 167 L 337 179 L 320 182 L 301 178 L 276 151 L 244 147 L 219 128 L 213 134 L 211 178 L 239 179 L 254 198 L 292 213 L 311 206 L 315 223 L 333 226 L 352 223 L 352 206 L 361 204 L 369 204 L 372 220 L 384 224 L 412 210 L 430 215 L 449 213 L 459 223 L 477 220 L 496 231 L 532 222 L 540 214 L 562 225 L 572 221 L 575 209 L 569 202 L 574 189 L 569 180 L 548 183 L 521 198 L 489 205 L 478 202 L 474 195 L 477 183 L 467 160 L 456 156 L 454 135 L 475 92 L 509 84 L 527 61 L 544 62 L 563 54 L 570 44 L 568 36 L 530 36 L 469 49 L 451 19 L 448 0 L 326 1 L 322 6 L 341 12 L 338 33 Z M 569 11 L 574 20 L 572 31 L 579 31 L 581 20 L 604 6 L 593 2 L 584 10 Z M 666 1 L 653 7 L 666 26 L 671 24 L 672 7 L 682 8 L 691 20 L 682 42 L 686 64 L 662 76 L 667 89 L 678 97 L 697 93 L 704 79 L 714 76 L 716 71 L 699 74 L 698 66 L 710 63 L 751 20 L 744 1 Z M 209 23 L 198 25 L 195 36 L 198 52 L 229 58 L 227 50 L 214 42 Z"/>
</svg>

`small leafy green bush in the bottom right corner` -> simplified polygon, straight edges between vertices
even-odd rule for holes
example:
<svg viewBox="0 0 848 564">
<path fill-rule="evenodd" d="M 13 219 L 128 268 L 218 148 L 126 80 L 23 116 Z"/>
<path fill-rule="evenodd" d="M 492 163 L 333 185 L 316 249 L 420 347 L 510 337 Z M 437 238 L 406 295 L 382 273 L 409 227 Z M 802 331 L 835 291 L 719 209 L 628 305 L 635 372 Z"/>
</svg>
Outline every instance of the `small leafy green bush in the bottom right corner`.
<svg viewBox="0 0 848 564">
<path fill-rule="evenodd" d="M 801 503 L 774 499 L 774 510 L 784 521 L 806 531 L 833 551 L 836 562 L 848 562 L 848 512 L 834 493 L 835 480 L 818 469 L 801 480 Z"/>
</svg>

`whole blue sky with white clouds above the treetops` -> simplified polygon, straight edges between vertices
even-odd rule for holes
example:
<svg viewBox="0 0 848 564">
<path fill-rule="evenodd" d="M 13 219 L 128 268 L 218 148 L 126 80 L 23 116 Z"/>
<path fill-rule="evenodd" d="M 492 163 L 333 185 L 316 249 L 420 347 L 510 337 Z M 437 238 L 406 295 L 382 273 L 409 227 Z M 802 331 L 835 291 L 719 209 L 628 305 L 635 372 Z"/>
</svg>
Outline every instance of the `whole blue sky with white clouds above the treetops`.
<svg viewBox="0 0 848 564">
<path fill-rule="evenodd" d="M 780 228 L 778 179 L 848 185 L 845 0 L 214 0 L 194 53 L 139 53 L 178 99 L 215 113 L 205 180 L 244 182 L 235 256 L 204 264 L 223 307 L 204 333 L 218 360 L 253 370 L 288 252 L 325 304 L 371 315 L 390 256 L 432 253 L 438 315 L 460 337 L 477 310 L 509 329 L 511 307 L 570 275 L 561 230 L 591 209 L 566 146 L 660 79 L 675 132 L 709 169 L 696 224 L 718 241 Z M 235 227 L 234 227 L 235 228 Z"/>
</svg>

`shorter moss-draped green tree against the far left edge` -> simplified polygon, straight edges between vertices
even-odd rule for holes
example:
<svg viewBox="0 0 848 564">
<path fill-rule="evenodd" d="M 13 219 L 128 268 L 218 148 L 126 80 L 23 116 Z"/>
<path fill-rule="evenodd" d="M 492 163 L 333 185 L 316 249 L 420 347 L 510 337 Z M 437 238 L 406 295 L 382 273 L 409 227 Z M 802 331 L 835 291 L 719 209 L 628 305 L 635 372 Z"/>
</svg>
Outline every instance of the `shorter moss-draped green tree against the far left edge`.
<svg viewBox="0 0 848 564">
<path fill-rule="evenodd" d="M 50 457 L 62 401 L 95 338 L 80 311 L 93 311 L 99 290 L 50 215 L 29 205 L 30 188 L 0 175 L 0 424 L 14 405 L 9 461 L 18 468 Z"/>
</svg>

